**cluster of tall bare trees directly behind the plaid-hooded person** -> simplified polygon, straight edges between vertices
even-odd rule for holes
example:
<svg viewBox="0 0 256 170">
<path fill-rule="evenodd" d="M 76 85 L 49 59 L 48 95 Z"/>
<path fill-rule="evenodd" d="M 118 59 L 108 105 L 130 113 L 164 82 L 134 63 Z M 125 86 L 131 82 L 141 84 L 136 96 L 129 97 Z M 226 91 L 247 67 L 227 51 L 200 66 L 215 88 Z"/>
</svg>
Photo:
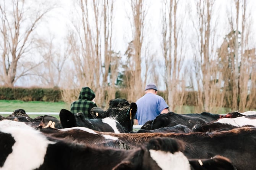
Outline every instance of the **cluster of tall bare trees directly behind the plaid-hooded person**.
<svg viewBox="0 0 256 170">
<path fill-rule="evenodd" d="M 96 103 L 103 108 L 110 98 L 114 98 L 112 82 L 115 80 L 112 79 L 118 73 L 117 69 L 113 70 L 118 64 L 112 49 L 113 2 L 79 0 L 77 11 L 81 20 L 73 21 L 76 35 L 70 41 L 77 88 L 92 88 Z"/>
</svg>

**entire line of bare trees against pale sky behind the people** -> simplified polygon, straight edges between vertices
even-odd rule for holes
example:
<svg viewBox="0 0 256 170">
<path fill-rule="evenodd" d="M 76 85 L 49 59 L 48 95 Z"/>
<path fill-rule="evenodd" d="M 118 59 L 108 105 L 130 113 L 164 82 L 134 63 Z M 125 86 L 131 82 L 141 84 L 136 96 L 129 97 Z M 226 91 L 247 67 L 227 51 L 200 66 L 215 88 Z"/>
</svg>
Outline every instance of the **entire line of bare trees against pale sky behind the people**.
<svg viewBox="0 0 256 170">
<path fill-rule="evenodd" d="M 88 86 L 104 108 L 154 82 L 170 111 L 256 109 L 251 1 L 76 0 L 61 40 L 39 35 L 57 6 L 31 2 L 0 1 L 0 85 L 60 87 L 66 103 Z"/>
</svg>

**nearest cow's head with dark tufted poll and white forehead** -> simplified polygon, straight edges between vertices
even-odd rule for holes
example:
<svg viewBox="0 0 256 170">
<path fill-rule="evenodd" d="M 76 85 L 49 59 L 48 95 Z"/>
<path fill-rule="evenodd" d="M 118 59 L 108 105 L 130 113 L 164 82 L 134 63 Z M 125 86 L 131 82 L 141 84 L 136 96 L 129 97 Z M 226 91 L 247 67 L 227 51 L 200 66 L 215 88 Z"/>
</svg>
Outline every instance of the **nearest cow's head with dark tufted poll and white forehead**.
<svg viewBox="0 0 256 170">
<path fill-rule="evenodd" d="M 152 138 L 149 143 L 132 157 L 127 157 L 113 170 L 143 169 L 190 169 L 188 159 L 181 152 L 183 143 L 173 138 Z"/>
</svg>

